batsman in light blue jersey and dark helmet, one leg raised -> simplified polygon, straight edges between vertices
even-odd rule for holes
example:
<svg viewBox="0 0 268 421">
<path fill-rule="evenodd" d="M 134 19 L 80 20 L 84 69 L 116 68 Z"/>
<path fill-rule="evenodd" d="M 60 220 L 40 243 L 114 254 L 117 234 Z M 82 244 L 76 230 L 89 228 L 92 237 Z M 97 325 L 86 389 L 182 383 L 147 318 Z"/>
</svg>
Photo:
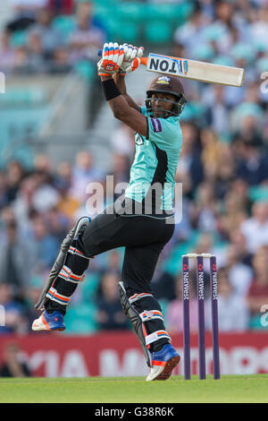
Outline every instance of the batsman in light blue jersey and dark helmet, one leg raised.
<svg viewBox="0 0 268 421">
<path fill-rule="evenodd" d="M 179 364 L 151 279 L 163 246 L 174 231 L 173 197 L 182 135 L 179 116 L 186 103 L 176 76 L 157 76 L 145 107 L 130 98 L 125 76 L 138 68 L 143 47 L 106 43 L 97 63 L 103 92 L 113 116 L 136 132 L 130 184 L 123 197 L 92 221 L 81 218 L 63 240 L 36 308 L 43 313 L 33 331 L 63 331 L 71 296 L 91 258 L 125 247 L 121 306 L 138 336 L 150 368 L 147 381 L 166 380 Z"/>
</svg>

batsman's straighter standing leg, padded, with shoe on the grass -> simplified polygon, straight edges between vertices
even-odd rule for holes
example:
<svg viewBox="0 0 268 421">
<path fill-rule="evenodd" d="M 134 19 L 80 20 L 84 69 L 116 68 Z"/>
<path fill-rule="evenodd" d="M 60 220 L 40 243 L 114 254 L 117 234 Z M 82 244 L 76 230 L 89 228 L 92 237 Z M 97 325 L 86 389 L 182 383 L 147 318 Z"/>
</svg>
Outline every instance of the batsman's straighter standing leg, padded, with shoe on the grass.
<svg viewBox="0 0 268 421">
<path fill-rule="evenodd" d="M 168 379 L 180 362 L 165 329 L 161 306 L 151 288 L 163 245 L 127 247 L 122 269 L 121 305 L 138 336 L 147 365 L 151 367 L 147 381 Z"/>
</svg>

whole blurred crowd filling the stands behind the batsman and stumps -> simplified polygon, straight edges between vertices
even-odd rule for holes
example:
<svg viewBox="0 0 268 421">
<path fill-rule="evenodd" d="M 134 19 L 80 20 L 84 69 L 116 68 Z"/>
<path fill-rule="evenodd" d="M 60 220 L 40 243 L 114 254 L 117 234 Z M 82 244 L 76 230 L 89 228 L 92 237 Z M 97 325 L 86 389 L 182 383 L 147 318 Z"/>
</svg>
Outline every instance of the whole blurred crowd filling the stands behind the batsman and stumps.
<svg viewBox="0 0 268 421">
<path fill-rule="evenodd" d="M 100 27 L 91 33 L 85 13 L 90 7 L 81 7 L 85 9 L 77 11 L 77 29 L 69 39 L 68 65 L 89 54 L 88 42 L 96 49 L 105 39 Z M 65 65 L 66 46 L 56 31 L 49 30 L 50 12 L 42 8 L 35 16 L 28 28 L 27 60 L 39 66 L 42 51 L 42 65 L 51 57 Z M 14 22 L 9 22 L 2 37 L 0 63 L 6 68 L 25 64 L 25 47 L 14 51 L 10 46 Z M 176 175 L 183 190 L 182 218 L 178 209 L 174 235 L 163 249 L 152 280 L 171 333 L 182 330 L 181 255 L 190 252 L 217 256 L 220 331 L 267 329 L 261 322 L 262 309 L 268 305 L 268 86 L 262 77 L 268 69 L 267 34 L 266 0 L 200 0 L 189 20 L 174 32 L 176 56 L 243 66 L 246 77 L 241 89 L 183 81 L 188 105 L 180 118 L 183 147 Z M 126 182 L 133 133 L 120 126 L 111 133 L 111 142 L 114 153 L 107 174 L 116 183 Z M 85 215 L 86 186 L 92 181 L 105 186 L 105 176 L 87 150 L 75 162 L 63 162 L 57 168 L 40 155 L 31 170 L 12 161 L 0 173 L 0 305 L 5 308 L 0 333 L 30 332 L 39 314 L 33 304 L 59 246 Z M 113 200 L 109 194 L 105 204 Z M 122 257 L 123 249 L 117 249 L 90 261 L 86 279 L 71 297 L 67 332 L 130 329 L 121 313 L 117 288 Z M 195 279 L 193 268 L 193 331 L 197 330 Z M 208 286 L 208 270 L 205 279 Z M 210 329 L 208 291 L 206 299 L 206 327 Z"/>
</svg>

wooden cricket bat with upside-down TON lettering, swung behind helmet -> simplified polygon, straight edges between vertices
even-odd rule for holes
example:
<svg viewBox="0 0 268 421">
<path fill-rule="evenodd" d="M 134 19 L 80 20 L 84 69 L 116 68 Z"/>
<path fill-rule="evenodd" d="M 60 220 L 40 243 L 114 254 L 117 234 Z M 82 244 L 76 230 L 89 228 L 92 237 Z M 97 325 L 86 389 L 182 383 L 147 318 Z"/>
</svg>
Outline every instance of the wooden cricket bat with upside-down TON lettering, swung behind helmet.
<svg viewBox="0 0 268 421">
<path fill-rule="evenodd" d="M 98 52 L 102 56 L 102 51 Z M 229 86 L 243 86 L 245 69 L 230 65 L 212 64 L 149 53 L 140 57 L 140 63 L 147 66 L 148 72 L 172 74 L 193 81 L 220 83 Z"/>
</svg>

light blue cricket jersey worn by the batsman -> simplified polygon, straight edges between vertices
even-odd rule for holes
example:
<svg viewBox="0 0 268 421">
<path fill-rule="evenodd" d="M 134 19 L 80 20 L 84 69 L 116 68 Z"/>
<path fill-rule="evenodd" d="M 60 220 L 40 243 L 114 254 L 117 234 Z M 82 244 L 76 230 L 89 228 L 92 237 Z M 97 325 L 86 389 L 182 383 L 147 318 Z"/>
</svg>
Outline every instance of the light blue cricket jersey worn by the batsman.
<svg viewBox="0 0 268 421">
<path fill-rule="evenodd" d="M 136 153 L 130 168 L 130 184 L 125 196 L 137 202 L 145 202 L 150 188 L 157 184 L 156 209 L 172 211 L 175 173 L 180 157 L 182 133 L 179 116 L 153 118 L 147 107 L 140 108 L 147 116 L 148 137 L 136 133 Z M 157 189 L 159 185 L 162 189 Z M 160 192 L 160 193 L 159 193 Z M 147 213 L 147 212 L 145 212 Z"/>
</svg>

